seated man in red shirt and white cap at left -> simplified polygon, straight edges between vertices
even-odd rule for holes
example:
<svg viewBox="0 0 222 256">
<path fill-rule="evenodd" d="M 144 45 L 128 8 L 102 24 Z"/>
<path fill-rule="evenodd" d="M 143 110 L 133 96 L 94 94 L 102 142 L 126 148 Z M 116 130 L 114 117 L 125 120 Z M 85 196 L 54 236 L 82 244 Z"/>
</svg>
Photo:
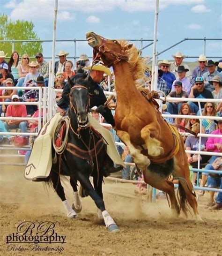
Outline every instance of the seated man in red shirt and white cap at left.
<svg viewBox="0 0 222 256">
<path fill-rule="evenodd" d="M 12 96 L 13 102 L 19 102 L 17 94 Z M 27 117 L 25 105 L 8 105 L 6 111 L 7 117 Z M 27 121 L 9 119 L 4 122 L 6 130 L 20 128 L 22 132 L 27 132 Z"/>
</svg>

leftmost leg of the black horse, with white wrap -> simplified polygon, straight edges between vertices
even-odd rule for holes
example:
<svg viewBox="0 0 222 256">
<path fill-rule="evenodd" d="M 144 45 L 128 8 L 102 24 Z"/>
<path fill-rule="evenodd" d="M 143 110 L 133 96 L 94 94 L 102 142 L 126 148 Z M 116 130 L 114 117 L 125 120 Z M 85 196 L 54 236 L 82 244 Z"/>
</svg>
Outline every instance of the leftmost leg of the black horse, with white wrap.
<svg viewBox="0 0 222 256">
<path fill-rule="evenodd" d="M 69 202 L 66 199 L 64 189 L 63 189 L 61 181 L 60 181 L 59 174 L 52 171 L 51 172 L 51 180 L 52 180 L 53 188 L 55 189 L 57 195 L 62 200 L 62 203 L 67 211 L 68 218 L 75 218 L 76 213 L 72 209 L 72 207 L 70 206 Z"/>
</svg>

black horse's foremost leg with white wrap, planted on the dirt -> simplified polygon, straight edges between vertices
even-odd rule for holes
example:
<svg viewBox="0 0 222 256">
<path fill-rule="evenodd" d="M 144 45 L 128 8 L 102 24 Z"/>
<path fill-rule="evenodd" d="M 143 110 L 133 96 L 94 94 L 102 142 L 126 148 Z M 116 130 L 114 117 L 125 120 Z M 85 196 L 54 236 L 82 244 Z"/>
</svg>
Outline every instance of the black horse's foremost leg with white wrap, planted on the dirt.
<svg viewBox="0 0 222 256">
<path fill-rule="evenodd" d="M 111 218 L 108 211 L 105 210 L 105 204 L 101 196 L 98 195 L 96 190 L 93 188 L 92 184 L 89 181 L 89 176 L 82 173 L 77 173 L 78 180 L 80 181 L 82 187 L 87 190 L 89 196 L 93 199 L 93 201 L 96 203 L 96 206 L 100 211 L 102 211 L 102 215 L 104 218 L 105 226 L 107 227 L 108 231 L 110 232 L 119 232 L 119 228 L 116 225 L 115 221 Z M 102 183 L 102 181 L 100 181 Z M 102 186 L 102 185 L 101 185 Z"/>
</svg>

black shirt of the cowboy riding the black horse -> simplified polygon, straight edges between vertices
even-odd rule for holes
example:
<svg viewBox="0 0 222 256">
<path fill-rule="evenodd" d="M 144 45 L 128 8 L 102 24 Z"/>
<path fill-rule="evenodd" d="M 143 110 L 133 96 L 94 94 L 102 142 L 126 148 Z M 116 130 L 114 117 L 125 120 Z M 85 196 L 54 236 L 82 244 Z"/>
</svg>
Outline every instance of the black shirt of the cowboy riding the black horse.
<svg viewBox="0 0 222 256">
<path fill-rule="evenodd" d="M 77 73 L 76 75 L 73 75 L 70 79 L 73 82 L 75 82 L 79 78 L 85 79 L 86 77 L 87 77 L 86 74 Z M 92 97 L 90 98 L 89 107 L 92 108 L 93 106 L 104 105 L 104 103 L 106 102 L 106 97 L 103 89 L 98 85 L 98 83 L 93 81 L 91 76 L 89 76 L 89 83 L 90 83 L 90 93 L 92 94 Z M 69 96 L 68 96 L 69 92 L 70 92 L 70 87 L 68 83 L 66 83 L 62 92 L 62 98 L 59 100 L 57 104 L 62 109 L 67 109 L 69 106 Z M 106 107 L 105 110 L 106 112 L 102 113 L 104 119 L 114 127 L 115 121 L 111 113 L 111 110 L 108 107 Z"/>
</svg>

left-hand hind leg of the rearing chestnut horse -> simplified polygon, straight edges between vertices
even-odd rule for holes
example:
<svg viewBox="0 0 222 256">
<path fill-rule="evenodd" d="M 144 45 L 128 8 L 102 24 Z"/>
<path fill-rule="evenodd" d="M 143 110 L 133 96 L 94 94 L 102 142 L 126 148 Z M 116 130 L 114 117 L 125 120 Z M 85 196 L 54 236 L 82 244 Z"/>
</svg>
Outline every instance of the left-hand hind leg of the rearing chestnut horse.
<svg viewBox="0 0 222 256">
<path fill-rule="evenodd" d="M 161 176 L 158 173 L 151 173 L 149 170 L 144 170 L 143 176 L 144 181 L 150 186 L 162 190 L 170 196 L 172 214 L 174 217 L 177 217 L 180 213 L 180 209 L 178 206 L 177 198 L 175 196 L 173 182 L 166 180 L 165 177 Z"/>
</svg>

